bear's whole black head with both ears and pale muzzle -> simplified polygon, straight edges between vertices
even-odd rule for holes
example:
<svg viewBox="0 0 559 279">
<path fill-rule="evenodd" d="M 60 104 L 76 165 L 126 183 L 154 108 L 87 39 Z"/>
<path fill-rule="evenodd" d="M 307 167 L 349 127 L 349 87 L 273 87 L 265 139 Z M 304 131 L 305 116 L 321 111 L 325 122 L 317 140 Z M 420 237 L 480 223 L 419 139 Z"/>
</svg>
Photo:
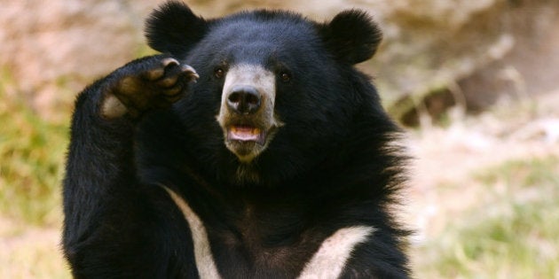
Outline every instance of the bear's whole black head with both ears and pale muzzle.
<svg viewBox="0 0 559 279">
<path fill-rule="evenodd" d="M 264 10 L 202 19 L 171 1 L 152 13 L 146 36 L 200 74 L 177 112 L 200 142 L 219 139 L 240 168 L 283 162 L 287 176 L 311 167 L 348 136 L 363 94 L 376 94 L 358 89 L 368 80 L 353 68 L 382 38 L 365 12 L 326 23 Z"/>
</svg>

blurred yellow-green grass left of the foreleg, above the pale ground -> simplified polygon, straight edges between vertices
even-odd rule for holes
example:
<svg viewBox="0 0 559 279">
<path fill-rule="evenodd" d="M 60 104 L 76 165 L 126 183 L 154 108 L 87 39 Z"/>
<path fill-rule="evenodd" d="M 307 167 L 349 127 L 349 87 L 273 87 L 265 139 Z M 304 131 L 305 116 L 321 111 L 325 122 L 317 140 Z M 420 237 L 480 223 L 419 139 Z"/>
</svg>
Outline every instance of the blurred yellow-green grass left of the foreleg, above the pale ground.
<svg viewBox="0 0 559 279">
<path fill-rule="evenodd" d="M 33 224 L 61 220 L 67 123 L 42 120 L 0 83 L 0 212 Z M 69 112 L 68 112 L 69 113 Z"/>
</svg>

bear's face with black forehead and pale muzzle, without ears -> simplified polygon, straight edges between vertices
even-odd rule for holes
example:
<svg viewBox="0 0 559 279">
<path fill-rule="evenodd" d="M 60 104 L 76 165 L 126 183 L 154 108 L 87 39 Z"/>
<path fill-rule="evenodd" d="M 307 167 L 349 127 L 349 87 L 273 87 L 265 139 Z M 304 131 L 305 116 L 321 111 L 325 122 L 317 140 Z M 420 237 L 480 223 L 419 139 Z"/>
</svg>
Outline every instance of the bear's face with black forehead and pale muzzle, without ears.
<svg viewBox="0 0 559 279">
<path fill-rule="evenodd" d="M 220 96 L 216 119 L 224 144 L 243 163 L 267 149 L 284 126 L 284 118 L 303 120 L 295 114 L 313 109 L 303 99 L 320 94 L 314 90 L 319 86 L 312 83 L 324 83 L 320 80 L 327 75 L 319 73 L 327 72 L 320 62 L 328 59 L 326 52 L 318 43 L 302 39 L 316 37 L 306 22 L 262 16 L 216 23 L 191 51 L 193 64 L 204 67 L 202 75 L 210 77 L 201 79 L 197 87 L 213 88 L 211 94 Z M 198 55 L 212 46 L 220 47 L 213 47 L 210 55 Z M 305 76 L 312 70 L 310 65 L 314 73 Z"/>
</svg>

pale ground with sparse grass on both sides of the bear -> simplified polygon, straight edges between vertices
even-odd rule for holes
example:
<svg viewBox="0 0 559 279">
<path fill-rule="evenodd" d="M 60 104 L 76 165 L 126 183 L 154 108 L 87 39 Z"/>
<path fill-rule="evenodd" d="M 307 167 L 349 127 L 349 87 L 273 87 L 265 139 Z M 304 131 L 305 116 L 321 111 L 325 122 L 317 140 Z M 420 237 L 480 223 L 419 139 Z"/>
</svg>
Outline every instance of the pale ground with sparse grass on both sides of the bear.
<svg viewBox="0 0 559 279">
<path fill-rule="evenodd" d="M 548 221 L 559 219 L 557 107 L 559 89 L 408 130 L 417 278 L 559 277 L 559 225 Z M 46 222 L 0 214 L 1 278 L 69 278 L 53 212 Z"/>
</svg>

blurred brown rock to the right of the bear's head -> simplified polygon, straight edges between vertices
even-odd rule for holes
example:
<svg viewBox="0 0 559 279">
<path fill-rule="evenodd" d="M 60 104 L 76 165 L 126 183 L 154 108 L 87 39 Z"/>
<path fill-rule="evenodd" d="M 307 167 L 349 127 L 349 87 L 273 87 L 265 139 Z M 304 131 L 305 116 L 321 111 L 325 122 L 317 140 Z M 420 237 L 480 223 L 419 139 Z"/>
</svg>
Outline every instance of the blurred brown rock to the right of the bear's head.
<svg viewBox="0 0 559 279">
<path fill-rule="evenodd" d="M 437 98 L 433 94 L 439 103 L 477 112 L 502 97 L 532 97 L 557 87 L 559 2 L 475 0 L 449 7 L 449 1 L 421 1 L 427 11 L 415 11 L 413 2 L 419 1 L 385 15 L 398 35 L 388 37 L 369 65 L 391 94 L 384 97 L 398 119 L 418 118 L 416 112 Z M 438 107 L 423 111 L 440 114 Z"/>
</svg>

